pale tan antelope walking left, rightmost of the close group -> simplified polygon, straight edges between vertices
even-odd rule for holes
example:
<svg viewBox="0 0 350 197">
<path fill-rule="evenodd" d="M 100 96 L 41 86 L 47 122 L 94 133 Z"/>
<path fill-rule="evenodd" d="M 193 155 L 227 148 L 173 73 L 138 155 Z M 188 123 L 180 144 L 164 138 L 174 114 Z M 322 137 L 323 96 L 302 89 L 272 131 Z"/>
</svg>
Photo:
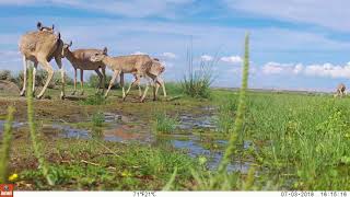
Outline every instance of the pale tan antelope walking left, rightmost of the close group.
<svg viewBox="0 0 350 197">
<path fill-rule="evenodd" d="M 132 73 L 135 76 L 135 81 L 129 85 L 129 89 L 127 93 L 125 93 L 124 89 L 124 82 L 120 83 L 122 89 L 122 99 L 125 100 L 127 94 L 130 91 L 130 88 L 133 84 L 139 84 L 139 81 L 142 77 L 144 77 L 148 80 L 145 90 L 143 92 L 143 95 L 141 96 L 140 101 L 143 102 L 144 97 L 147 95 L 149 85 L 151 84 L 151 78 L 148 76 L 148 71 L 151 71 L 151 67 L 154 60 L 148 55 L 131 55 L 131 56 L 118 56 L 118 57 L 109 57 L 107 55 L 101 55 L 95 54 L 91 57 L 92 61 L 101 61 L 104 65 L 106 65 L 108 68 L 110 68 L 114 71 L 114 74 L 112 77 L 112 80 L 108 85 L 108 90 L 105 94 L 105 96 L 108 95 L 109 90 L 112 85 L 115 83 L 115 80 L 120 77 L 122 73 Z M 162 71 L 164 70 L 161 69 Z M 161 83 L 164 84 L 164 83 Z M 163 89 L 165 90 L 165 89 Z M 166 95 L 166 93 L 165 93 Z"/>
</svg>

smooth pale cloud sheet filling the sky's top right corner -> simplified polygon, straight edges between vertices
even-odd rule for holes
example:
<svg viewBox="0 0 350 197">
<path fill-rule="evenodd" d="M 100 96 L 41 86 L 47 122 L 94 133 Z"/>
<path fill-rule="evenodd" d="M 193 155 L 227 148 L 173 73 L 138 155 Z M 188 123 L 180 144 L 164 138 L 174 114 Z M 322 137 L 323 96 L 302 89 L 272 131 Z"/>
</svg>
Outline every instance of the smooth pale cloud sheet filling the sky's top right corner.
<svg viewBox="0 0 350 197">
<path fill-rule="evenodd" d="M 303 22 L 330 27 L 339 31 L 350 31 L 350 24 L 343 19 L 350 18 L 348 0 L 224 0 L 229 8 L 261 16 Z"/>
</svg>

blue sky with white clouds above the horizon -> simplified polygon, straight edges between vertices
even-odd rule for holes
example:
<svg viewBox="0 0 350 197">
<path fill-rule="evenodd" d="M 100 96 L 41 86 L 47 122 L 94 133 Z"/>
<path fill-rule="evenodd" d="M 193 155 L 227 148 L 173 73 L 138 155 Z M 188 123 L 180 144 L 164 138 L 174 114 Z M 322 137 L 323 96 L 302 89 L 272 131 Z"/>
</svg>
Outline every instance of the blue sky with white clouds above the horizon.
<svg viewBox="0 0 350 197">
<path fill-rule="evenodd" d="M 0 69 L 23 69 L 20 36 L 40 21 L 72 49 L 156 57 L 165 81 L 183 79 L 191 46 L 195 68 L 208 67 L 213 86 L 237 88 L 248 32 L 249 88 L 334 91 L 350 82 L 348 8 L 347 0 L 0 0 Z"/>
</svg>

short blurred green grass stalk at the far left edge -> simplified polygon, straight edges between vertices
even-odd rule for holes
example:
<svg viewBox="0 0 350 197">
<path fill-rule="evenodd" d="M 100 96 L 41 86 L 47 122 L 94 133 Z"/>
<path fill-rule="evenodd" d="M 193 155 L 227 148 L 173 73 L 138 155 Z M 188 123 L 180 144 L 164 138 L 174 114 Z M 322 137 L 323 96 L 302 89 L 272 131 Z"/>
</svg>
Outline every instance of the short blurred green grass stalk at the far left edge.
<svg viewBox="0 0 350 197">
<path fill-rule="evenodd" d="M 13 121 L 14 107 L 8 108 L 7 123 L 2 134 L 2 146 L 0 153 L 0 183 L 7 183 L 9 176 L 9 160 L 10 160 L 10 148 L 12 140 L 12 121 Z"/>
</svg>

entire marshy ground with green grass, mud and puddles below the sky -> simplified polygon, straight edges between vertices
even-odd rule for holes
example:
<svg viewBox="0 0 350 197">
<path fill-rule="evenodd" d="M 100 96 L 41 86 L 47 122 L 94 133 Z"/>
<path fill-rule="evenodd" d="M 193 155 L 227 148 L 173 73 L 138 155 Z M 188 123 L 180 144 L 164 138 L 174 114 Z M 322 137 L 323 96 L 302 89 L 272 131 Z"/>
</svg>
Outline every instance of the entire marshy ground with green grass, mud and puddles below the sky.
<svg viewBox="0 0 350 197">
<path fill-rule="evenodd" d="M 126 102 L 92 88 L 65 101 L 1 93 L 0 178 L 19 189 L 349 190 L 350 100 L 247 91 L 245 42 L 240 92 L 190 73 L 156 102 L 135 90 Z"/>
</svg>

